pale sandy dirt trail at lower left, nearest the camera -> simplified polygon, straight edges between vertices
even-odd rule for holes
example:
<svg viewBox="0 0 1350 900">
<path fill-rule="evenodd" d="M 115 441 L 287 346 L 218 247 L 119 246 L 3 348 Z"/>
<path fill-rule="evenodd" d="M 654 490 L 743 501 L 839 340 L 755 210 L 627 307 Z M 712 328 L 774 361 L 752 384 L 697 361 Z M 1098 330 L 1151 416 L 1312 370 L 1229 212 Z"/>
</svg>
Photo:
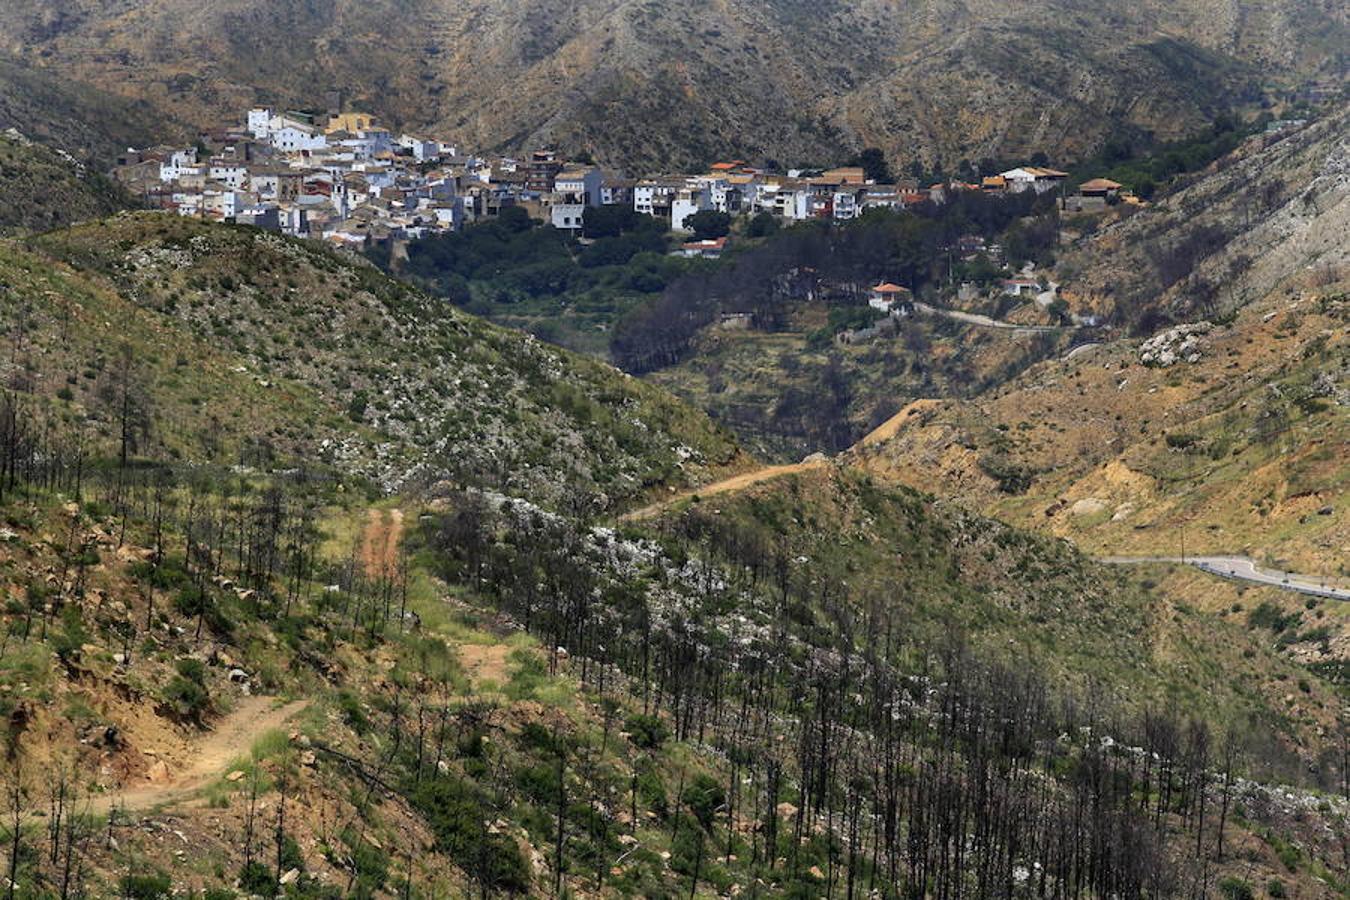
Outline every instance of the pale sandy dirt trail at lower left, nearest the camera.
<svg viewBox="0 0 1350 900">
<path fill-rule="evenodd" d="M 188 799 L 194 791 L 224 775 L 224 769 L 238 757 L 246 756 L 254 741 L 309 706 L 309 700 L 294 700 L 273 707 L 273 698 L 248 696 L 240 700 L 216 727 L 192 743 L 192 762 L 166 780 L 136 784 L 122 791 L 93 797 L 92 815 L 107 815 L 113 806 L 127 811 L 162 807 Z"/>
</svg>

